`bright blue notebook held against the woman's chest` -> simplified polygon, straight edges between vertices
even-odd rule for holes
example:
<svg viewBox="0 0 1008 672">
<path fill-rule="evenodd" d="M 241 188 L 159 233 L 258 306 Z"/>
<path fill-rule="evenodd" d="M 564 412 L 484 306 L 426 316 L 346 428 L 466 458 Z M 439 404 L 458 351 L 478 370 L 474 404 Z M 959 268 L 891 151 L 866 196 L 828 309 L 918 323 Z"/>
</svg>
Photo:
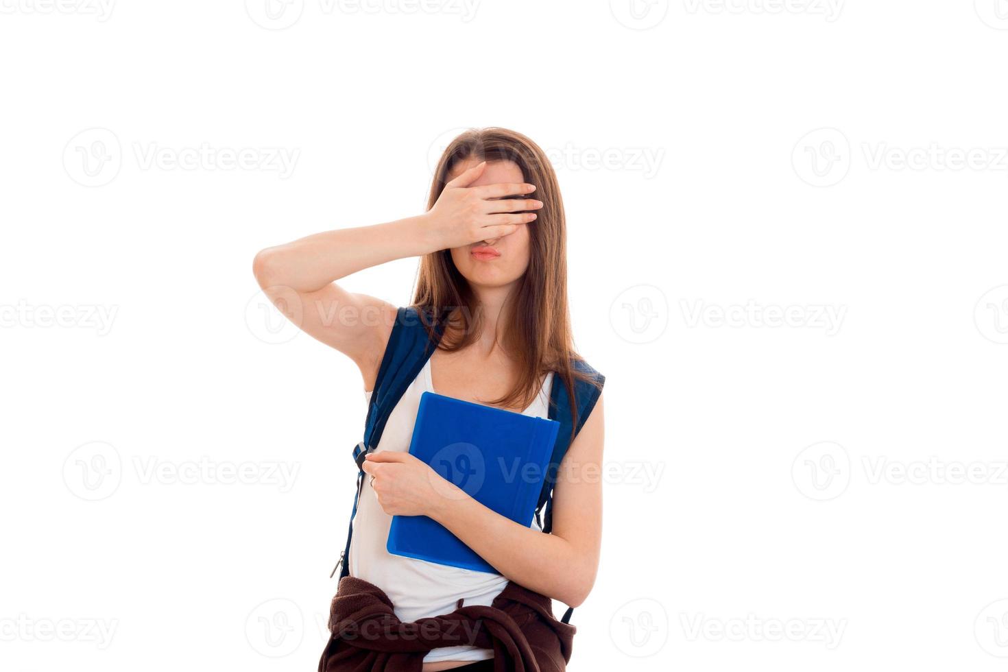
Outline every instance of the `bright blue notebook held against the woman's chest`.
<svg viewBox="0 0 1008 672">
<path fill-rule="evenodd" d="M 559 423 L 445 397 L 420 396 L 410 454 L 484 506 L 528 527 Z M 426 516 L 393 516 L 389 553 L 497 573 Z"/>
</svg>

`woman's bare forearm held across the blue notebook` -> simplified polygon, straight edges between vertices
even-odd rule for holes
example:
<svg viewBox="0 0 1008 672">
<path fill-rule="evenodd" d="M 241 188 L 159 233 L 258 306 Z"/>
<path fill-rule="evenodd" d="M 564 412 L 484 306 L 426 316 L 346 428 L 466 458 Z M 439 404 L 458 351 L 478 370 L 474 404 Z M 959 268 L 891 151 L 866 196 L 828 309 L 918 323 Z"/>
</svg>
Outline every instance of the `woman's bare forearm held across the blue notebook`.
<svg viewBox="0 0 1008 672">
<path fill-rule="evenodd" d="M 590 553 L 553 534 L 524 527 L 458 491 L 428 514 L 497 571 L 531 590 L 580 606 L 595 583 Z"/>
</svg>

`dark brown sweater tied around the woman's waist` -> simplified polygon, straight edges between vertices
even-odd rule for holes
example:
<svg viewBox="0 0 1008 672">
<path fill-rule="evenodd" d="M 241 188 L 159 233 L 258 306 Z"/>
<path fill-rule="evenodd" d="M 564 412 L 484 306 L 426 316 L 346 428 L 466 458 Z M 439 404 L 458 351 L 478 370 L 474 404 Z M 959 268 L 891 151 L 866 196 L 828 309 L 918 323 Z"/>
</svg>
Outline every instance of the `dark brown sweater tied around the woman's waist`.
<svg viewBox="0 0 1008 672">
<path fill-rule="evenodd" d="M 420 672 L 427 652 L 455 646 L 492 649 L 495 672 L 563 672 L 577 629 L 553 618 L 548 597 L 513 581 L 491 607 L 402 623 L 381 588 L 344 576 L 329 631 L 319 672 Z"/>
</svg>

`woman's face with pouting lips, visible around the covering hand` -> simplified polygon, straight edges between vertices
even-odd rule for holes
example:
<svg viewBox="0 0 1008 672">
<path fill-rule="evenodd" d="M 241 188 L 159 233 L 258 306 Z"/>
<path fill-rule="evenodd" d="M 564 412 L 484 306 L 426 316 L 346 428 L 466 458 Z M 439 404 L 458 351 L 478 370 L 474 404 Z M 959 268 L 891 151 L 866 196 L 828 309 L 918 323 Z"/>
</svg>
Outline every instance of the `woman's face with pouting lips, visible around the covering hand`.
<svg viewBox="0 0 1008 672">
<path fill-rule="evenodd" d="M 449 174 L 454 179 L 480 161 L 465 159 Z M 525 181 L 521 168 L 512 161 L 487 163 L 480 178 L 471 186 Z M 533 224 L 534 226 L 534 224 Z M 452 248 L 452 260 L 462 276 L 474 288 L 504 287 L 518 280 L 528 268 L 528 225 L 518 225 L 517 231 L 501 238 L 480 241 L 465 247 Z"/>
</svg>

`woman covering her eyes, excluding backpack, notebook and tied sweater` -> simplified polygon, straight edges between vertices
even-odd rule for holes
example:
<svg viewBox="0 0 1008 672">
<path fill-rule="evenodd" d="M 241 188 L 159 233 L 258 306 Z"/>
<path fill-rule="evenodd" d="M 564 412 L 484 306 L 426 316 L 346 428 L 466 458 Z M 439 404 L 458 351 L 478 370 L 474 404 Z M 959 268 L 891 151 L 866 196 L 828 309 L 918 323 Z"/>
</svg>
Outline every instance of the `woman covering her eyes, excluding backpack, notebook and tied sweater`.
<svg viewBox="0 0 1008 672">
<path fill-rule="evenodd" d="M 577 607 L 595 582 L 604 379 L 574 352 L 565 254 L 563 206 L 545 155 L 523 135 L 490 128 L 466 132 L 446 149 L 424 214 L 317 234 L 256 255 L 263 290 L 288 316 L 296 315 L 300 328 L 357 364 L 367 395 L 404 313 L 379 298 L 350 293 L 337 281 L 394 259 L 421 258 L 414 314 L 440 324 L 444 335 L 429 329 L 436 348 L 363 461 L 367 477 L 360 481 L 347 557 L 350 576 L 363 581 L 354 585 L 380 588 L 401 622 L 439 617 L 459 606 L 500 606 L 495 598 L 509 582 Z M 294 295 L 300 306 L 291 305 Z M 555 475 L 549 534 L 536 522 L 523 527 L 453 491 L 408 453 L 424 391 L 547 417 L 553 386 L 574 396 L 585 381 L 597 389 L 585 417 L 574 422 L 579 430 Z M 421 515 L 500 573 L 388 553 L 391 517 Z M 345 584 L 347 579 L 341 593 Z M 548 665 L 540 660 L 539 667 L 561 668 L 569 655 Z M 493 656 L 489 648 L 438 646 L 423 656 L 422 669 L 494 669 L 488 660 Z"/>
</svg>

